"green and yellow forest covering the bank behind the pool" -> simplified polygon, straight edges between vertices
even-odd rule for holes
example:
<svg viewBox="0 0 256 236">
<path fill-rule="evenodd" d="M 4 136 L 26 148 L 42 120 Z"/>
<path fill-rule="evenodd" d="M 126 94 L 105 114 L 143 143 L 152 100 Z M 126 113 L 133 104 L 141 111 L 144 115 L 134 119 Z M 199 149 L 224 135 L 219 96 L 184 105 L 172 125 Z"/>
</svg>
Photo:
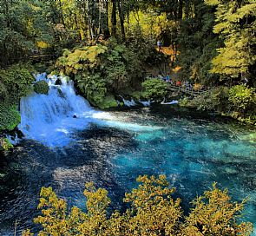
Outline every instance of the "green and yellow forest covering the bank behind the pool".
<svg viewBox="0 0 256 236">
<path fill-rule="evenodd" d="M 14 106 L 30 92 L 34 70 L 69 75 L 99 108 L 116 106 L 119 94 L 160 101 L 165 86 L 142 82 L 169 74 L 213 88 L 193 101 L 182 96 L 182 106 L 255 123 L 255 7 L 253 0 L 1 1 L 1 130 L 18 122 Z M 157 52 L 157 40 L 171 52 Z"/>
</svg>

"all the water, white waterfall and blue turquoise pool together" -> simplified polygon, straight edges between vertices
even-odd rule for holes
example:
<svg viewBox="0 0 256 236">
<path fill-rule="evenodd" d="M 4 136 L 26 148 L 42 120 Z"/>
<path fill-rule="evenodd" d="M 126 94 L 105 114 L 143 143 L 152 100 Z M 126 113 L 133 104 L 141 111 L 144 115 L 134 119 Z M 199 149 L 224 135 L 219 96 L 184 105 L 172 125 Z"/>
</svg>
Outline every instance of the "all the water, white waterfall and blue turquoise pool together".
<svg viewBox="0 0 256 236">
<path fill-rule="evenodd" d="M 256 226 L 255 129 L 172 105 L 96 111 L 75 95 L 72 82 L 37 80 L 49 83 L 49 95 L 21 102 L 25 138 L 2 163 L 10 174 L 0 182 L 0 235 L 13 235 L 15 224 L 18 233 L 34 227 L 43 186 L 84 208 L 84 183 L 94 181 L 122 209 L 139 174 L 166 174 L 185 210 L 217 181 L 233 200 L 250 197 L 243 220 Z"/>
</svg>

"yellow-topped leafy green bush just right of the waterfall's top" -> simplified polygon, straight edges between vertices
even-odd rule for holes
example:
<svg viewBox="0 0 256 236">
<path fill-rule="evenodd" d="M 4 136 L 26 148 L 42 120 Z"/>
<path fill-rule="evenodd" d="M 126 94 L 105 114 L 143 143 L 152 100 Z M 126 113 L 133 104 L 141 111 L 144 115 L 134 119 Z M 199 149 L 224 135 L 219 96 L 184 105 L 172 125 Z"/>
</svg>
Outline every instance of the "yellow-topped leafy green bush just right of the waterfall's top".
<svg viewBox="0 0 256 236">
<path fill-rule="evenodd" d="M 107 93 L 100 69 L 102 54 L 107 49 L 106 46 L 95 45 L 75 49 L 74 52 L 64 50 L 63 56 L 56 62 L 56 67 L 63 73 L 74 75 L 78 88 L 96 106 L 103 102 Z"/>
</svg>

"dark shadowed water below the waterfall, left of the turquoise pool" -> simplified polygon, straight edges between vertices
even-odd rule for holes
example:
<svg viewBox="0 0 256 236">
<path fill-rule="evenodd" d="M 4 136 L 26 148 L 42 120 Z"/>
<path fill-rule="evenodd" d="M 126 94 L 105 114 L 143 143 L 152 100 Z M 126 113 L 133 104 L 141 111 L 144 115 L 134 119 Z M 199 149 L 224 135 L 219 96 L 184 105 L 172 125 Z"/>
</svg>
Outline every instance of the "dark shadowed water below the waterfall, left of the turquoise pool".
<svg viewBox="0 0 256 236">
<path fill-rule="evenodd" d="M 14 152 L 7 156 L 8 178 L 1 182 L 0 235 L 12 235 L 10 229 L 18 221 L 19 230 L 30 226 L 36 216 L 36 206 L 41 187 L 53 187 L 70 205 L 85 207 L 84 184 L 94 181 L 96 187 L 113 190 L 113 207 L 118 207 L 121 186 L 113 173 L 110 155 L 122 149 L 133 149 L 136 144 L 131 134 L 116 128 L 99 128 L 95 125 L 75 135 L 80 140 L 63 148 L 49 148 L 42 144 L 23 140 Z M 114 193 L 120 189 L 120 193 Z M 116 201 L 115 201 L 116 199 Z"/>
</svg>

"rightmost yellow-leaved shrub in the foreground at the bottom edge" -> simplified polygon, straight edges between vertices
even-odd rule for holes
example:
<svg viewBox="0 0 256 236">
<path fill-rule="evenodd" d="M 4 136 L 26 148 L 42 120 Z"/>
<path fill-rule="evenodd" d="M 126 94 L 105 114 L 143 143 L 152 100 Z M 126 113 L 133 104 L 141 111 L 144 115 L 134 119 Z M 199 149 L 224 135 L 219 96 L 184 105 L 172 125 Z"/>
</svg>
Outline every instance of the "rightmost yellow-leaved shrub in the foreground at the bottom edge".
<svg viewBox="0 0 256 236">
<path fill-rule="evenodd" d="M 240 229 L 240 225 L 237 225 L 235 220 L 240 216 L 245 202 L 233 203 L 230 200 L 227 190 L 221 191 L 214 183 L 211 190 L 206 191 L 203 196 L 193 201 L 195 207 L 186 218 L 185 231 L 187 232 L 191 228 L 194 231 L 194 226 L 199 226 L 197 231 L 201 229 L 200 232 L 203 235 L 238 235 L 235 232 Z M 241 235 L 251 232 L 249 229 L 252 225 L 244 224 L 246 224 L 246 228 L 243 228 L 244 231 L 241 232 Z"/>
</svg>

